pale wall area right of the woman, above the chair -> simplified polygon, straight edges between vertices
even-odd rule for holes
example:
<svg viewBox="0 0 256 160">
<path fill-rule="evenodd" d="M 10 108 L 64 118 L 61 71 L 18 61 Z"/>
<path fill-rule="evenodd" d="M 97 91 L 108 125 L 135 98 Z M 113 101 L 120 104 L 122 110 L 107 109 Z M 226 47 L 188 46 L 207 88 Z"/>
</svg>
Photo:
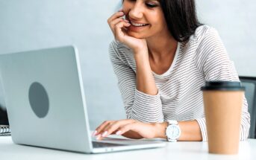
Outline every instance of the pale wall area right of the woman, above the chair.
<svg viewBox="0 0 256 160">
<path fill-rule="evenodd" d="M 219 31 L 238 74 L 256 77 L 256 1 L 196 1 L 200 19 Z"/>
</svg>

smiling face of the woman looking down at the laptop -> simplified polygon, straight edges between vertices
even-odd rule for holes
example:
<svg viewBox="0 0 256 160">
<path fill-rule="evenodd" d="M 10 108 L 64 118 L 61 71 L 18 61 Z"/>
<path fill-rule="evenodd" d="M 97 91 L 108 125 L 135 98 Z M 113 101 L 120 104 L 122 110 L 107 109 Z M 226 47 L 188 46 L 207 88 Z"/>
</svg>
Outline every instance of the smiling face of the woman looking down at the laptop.
<svg viewBox="0 0 256 160">
<path fill-rule="evenodd" d="M 124 0 L 122 9 L 131 23 L 129 36 L 148 38 L 169 32 L 159 0 Z"/>
</svg>

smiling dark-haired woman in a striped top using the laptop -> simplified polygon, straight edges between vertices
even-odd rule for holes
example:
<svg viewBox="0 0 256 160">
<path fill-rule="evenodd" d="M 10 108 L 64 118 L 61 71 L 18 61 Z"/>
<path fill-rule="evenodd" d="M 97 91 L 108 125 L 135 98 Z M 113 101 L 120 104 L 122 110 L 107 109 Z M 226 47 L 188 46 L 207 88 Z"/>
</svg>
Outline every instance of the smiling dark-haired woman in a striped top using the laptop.
<svg viewBox="0 0 256 160">
<path fill-rule="evenodd" d="M 216 30 L 197 20 L 195 1 L 123 0 L 107 22 L 128 119 L 104 121 L 93 135 L 207 141 L 200 87 L 239 78 Z M 244 98 L 240 140 L 248 137 L 249 121 Z M 175 129 L 166 135 L 169 126 Z"/>
</svg>

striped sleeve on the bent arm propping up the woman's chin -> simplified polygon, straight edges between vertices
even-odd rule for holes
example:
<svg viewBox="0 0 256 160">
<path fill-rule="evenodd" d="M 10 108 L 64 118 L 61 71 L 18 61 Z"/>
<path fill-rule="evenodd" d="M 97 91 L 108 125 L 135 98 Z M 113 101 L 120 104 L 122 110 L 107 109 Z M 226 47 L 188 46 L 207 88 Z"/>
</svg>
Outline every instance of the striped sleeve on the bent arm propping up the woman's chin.
<svg viewBox="0 0 256 160">
<path fill-rule="evenodd" d="M 128 51 L 119 47 L 119 43 L 113 41 L 109 46 L 110 61 L 118 80 L 122 101 L 125 105 L 126 117 L 142 122 L 162 122 L 163 111 L 159 93 L 147 95 L 136 89 L 136 74 L 125 62 L 125 54 Z"/>
</svg>

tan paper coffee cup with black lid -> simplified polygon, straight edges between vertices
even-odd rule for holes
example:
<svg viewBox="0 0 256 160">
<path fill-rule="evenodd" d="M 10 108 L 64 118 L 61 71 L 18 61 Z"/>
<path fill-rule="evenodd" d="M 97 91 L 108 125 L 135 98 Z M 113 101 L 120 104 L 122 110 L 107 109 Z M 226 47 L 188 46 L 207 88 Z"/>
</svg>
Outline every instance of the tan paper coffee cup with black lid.
<svg viewBox="0 0 256 160">
<path fill-rule="evenodd" d="M 201 90 L 209 153 L 237 154 L 245 88 L 240 82 L 208 81 Z"/>
</svg>

